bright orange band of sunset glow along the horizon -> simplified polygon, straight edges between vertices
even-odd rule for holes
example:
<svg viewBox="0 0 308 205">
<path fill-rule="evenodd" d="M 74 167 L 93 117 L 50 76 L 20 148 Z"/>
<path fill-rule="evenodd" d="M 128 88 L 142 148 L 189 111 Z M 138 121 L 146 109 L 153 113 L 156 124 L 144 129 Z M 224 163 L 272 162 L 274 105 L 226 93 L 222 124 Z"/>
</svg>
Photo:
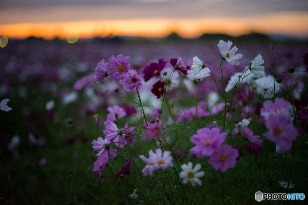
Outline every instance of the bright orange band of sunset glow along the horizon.
<svg viewBox="0 0 308 205">
<path fill-rule="evenodd" d="M 232 22 L 232 23 L 230 23 Z M 223 33 L 233 36 L 250 33 L 284 34 L 308 37 L 308 13 L 286 12 L 248 18 L 197 18 L 197 19 L 129 19 L 105 21 L 20 23 L 0 25 L 0 37 L 26 38 L 29 36 L 67 39 L 72 30 L 80 38 L 118 36 L 164 37 L 175 31 L 186 38 L 204 33 Z"/>
</svg>

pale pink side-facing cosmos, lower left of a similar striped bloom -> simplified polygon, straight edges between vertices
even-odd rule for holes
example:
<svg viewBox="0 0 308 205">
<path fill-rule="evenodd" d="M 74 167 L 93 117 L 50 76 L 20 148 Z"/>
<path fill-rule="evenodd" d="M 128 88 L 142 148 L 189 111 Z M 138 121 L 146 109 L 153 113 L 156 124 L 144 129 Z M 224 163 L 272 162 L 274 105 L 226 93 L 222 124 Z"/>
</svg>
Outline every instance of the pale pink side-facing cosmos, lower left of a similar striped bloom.
<svg viewBox="0 0 308 205">
<path fill-rule="evenodd" d="M 111 141 L 109 139 L 103 140 L 103 138 L 99 137 L 96 140 L 92 141 L 94 151 L 98 151 L 96 156 L 101 156 L 102 154 L 105 154 L 105 152 L 108 153 L 108 157 L 113 160 L 116 157 L 117 150 L 110 147 Z"/>
</svg>

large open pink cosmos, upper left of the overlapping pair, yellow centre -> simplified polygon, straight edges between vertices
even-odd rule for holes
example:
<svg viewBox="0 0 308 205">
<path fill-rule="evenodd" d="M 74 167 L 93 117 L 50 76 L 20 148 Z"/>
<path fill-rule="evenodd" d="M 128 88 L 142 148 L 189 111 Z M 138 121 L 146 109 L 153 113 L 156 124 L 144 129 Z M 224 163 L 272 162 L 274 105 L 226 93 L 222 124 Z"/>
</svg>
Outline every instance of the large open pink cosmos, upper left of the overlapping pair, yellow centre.
<svg viewBox="0 0 308 205">
<path fill-rule="evenodd" d="M 210 156 L 218 151 L 221 144 L 226 139 L 226 132 L 220 132 L 219 128 L 202 128 L 197 130 L 197 134 L 190 137 L 190 141 L 196 144 L 189 152 L 197 157 Z"/>
</svg>

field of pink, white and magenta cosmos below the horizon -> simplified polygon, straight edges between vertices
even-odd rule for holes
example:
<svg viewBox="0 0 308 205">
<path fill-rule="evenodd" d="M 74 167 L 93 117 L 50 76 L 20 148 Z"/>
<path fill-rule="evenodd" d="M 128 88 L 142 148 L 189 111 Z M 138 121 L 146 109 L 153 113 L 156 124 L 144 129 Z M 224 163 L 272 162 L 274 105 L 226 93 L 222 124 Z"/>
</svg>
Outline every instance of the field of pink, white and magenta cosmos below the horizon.
<svg viewBox="0 0 308 205">
<path fill-rule="evenodd" d="M 0 204 L 305 204 L 308 44 L 222 37 L 9 41 Z"/>
</svg>

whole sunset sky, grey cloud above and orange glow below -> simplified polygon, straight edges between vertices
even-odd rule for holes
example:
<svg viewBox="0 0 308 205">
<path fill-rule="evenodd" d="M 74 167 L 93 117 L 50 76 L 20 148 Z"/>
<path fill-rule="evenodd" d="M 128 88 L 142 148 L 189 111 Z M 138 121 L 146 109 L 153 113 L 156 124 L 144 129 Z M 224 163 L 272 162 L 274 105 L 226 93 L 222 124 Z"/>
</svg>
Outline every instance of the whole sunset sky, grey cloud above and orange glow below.
<svg viewBox="0 0 308 205">
<path fill-rule="evenodd" d="M 0 37 L 108 35 L 182 37 L 204 33 L 308 38 L 306 0 L 2 0 Z"/>
</svg>

